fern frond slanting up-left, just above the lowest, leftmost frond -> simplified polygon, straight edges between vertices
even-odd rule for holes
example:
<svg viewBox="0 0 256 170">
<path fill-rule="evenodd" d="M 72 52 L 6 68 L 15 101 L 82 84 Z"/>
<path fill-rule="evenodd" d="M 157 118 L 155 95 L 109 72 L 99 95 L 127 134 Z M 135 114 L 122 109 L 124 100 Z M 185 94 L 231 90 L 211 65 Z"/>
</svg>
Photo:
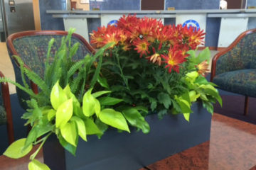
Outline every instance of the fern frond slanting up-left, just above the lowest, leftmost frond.
<svg viewBox="0 0 256 170">
<path fill-rule="evenodd" d="M 41 77 L 39 77 L 38 74 L 27 68 L 24 68 L 24 71 L 28 79 L 31 79 L 42 91 L 50 95 L 50 90 L 48 89 L 46 82 L 43 81 L 43 79 L 41 79 Z"/>
</svg>

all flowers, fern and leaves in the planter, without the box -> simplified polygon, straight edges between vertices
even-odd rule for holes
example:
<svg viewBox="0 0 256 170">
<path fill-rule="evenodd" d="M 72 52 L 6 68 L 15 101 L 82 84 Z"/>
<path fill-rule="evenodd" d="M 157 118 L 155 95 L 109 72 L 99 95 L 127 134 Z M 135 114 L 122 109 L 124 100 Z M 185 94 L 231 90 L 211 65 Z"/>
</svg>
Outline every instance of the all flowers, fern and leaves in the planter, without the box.
<svg viewBox="0 0 256 170">
<path fill-rule="evenodd" d="M 193 102 L 201 101 L 210 113 L 213 103 L 222 103 L 215 84 L 203 77 L 210 51 L 206 48 L 196 55 L 196 47 L 203 44 L 203 30 L 123 16 L 117 26 L 94 31 L 91 43 L 100 50 L 77 62 L 72 60 L 79 47 L 79 43 L 71 45 L 74 31 L 63 38 L 54 56 L 50 50 L 55 40 L 50 40 L 44 77 L 14 56 L 23 84 L 0 79 L 31 97 L 22 117 L 31 131 L 4 152 L 17 159 L 39 145 L 31 154 L 28 169 L 49 169 L 36 160 L 36 155 L 50 135 L 75 155 L 79 137 L 85 141 L 87 135 L 100 138 L 110 127 L 126 132 L 134 127 L 148 133 L 144 117 L 150 113 L 158 113 L 159 118 L 183 113 L 189 121 Z M 25 77 L 38 85 L 38 94 L 33 93 Z"/>
</svg>

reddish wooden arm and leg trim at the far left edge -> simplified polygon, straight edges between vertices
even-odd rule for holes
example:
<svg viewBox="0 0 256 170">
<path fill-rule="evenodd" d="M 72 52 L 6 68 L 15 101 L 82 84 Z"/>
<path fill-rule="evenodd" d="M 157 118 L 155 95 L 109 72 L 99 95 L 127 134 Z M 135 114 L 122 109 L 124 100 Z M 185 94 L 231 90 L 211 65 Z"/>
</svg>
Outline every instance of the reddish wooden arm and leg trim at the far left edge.
<svg viewBox="0 0 256 170">
<path fill-rule="evenodd" d="M 4 78 L 4 74 L 0 72 L 0 77 Z M 9 86 L 8 83 L 1 83 L 1 93 L 3 94 L 4 99 L 4 108 L 6 109 L 6 118 L 7 118 L 7 133 L 9 139 L 9 145 L 14 142 L 14 125 L 12 121 L 11 115 L 11 101 L 9 94 Z"/>
</svg>

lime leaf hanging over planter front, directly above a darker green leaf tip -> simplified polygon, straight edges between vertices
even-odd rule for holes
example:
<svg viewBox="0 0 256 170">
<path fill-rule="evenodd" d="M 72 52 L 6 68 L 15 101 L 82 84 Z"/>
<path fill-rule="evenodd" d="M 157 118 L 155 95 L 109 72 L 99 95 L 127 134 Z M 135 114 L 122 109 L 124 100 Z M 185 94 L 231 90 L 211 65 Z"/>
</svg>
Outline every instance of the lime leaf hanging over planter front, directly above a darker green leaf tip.
<svg viewBox="0 0 256 170">
<path fill-rule="evenodd" d="M 60 128 L 63 138 L 73 146 L 77 146 L 78 130 L 74 122 L 66 123 Z"/>
</svg>

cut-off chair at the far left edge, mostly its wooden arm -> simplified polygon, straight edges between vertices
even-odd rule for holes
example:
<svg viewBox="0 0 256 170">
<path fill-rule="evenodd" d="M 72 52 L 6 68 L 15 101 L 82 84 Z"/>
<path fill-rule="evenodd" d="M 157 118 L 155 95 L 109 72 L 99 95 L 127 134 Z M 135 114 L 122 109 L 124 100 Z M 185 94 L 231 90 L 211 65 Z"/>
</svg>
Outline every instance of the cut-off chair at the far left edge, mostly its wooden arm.
<svg viewBox="0 0 256 170">
<path fill-rule="evenodd" d="M 2 72 L 0 72 L 0 77 L 4 78 Z M 7 83 L 0 84 L 0 125 L 6 125 L 9 144 L 11 145 L 14 142 L 14 125 L 11 117 L 11 101 Z"/>
</svg>

